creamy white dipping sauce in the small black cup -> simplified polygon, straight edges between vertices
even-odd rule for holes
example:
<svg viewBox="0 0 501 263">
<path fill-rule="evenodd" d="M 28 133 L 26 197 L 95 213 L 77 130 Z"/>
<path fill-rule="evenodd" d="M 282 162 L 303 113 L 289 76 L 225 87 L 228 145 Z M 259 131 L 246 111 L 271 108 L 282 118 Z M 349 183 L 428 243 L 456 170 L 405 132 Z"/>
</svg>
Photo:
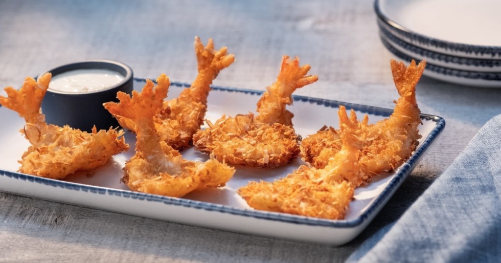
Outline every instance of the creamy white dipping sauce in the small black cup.
<svg viewBox="0 0 501 263">
<path fill-rule="evenodd" d="M 72 70 L 54 76 L 49 88 L 62 92 L 93 92 L 116 85 L 124 79 L 124 76 L 112 70 Z"/>
</svg>

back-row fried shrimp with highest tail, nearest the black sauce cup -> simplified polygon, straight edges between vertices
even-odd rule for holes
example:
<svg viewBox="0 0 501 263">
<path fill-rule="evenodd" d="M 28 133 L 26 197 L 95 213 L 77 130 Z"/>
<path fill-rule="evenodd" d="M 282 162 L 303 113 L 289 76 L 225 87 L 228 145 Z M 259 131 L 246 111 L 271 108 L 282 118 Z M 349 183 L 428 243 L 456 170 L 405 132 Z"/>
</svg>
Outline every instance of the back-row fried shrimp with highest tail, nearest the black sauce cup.
<svg viewBox="0 0 501 263">
<path fill-rule="evenodd" d="M 163 107 L 153 119 L 160 138 L 177 150 L 188 146 L 193 134 L 200 129 L 207 111 L 207 96 L 212 80 L 222 69 L 229 67 L 235 61 L 232 54 L 226 54 L 226 47 L 215 51 L 212 39 L 209 39 L 207 46 L 204 47 L 200 38 L 195 37 L 194 45 L 198 63 L 196 79 L 178 98 L 164 101 Z M 117 114 L 113 116 L 122 127 L 135 131 L 133 120 Z"/>
</svg>

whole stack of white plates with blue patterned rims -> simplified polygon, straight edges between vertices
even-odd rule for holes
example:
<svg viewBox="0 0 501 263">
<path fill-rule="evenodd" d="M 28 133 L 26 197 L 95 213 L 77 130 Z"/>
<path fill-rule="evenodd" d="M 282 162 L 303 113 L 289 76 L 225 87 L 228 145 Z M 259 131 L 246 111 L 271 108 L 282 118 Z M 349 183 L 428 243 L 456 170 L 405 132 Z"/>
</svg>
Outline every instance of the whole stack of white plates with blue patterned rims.
<svg viewBox="0 0 501 263">
<path fill-rule="evenodd" d="M 404 61 L 425 59 L 424 75 L 501 88 L 501 1 L 376 0 L 381 41 Z"/>
</svg>

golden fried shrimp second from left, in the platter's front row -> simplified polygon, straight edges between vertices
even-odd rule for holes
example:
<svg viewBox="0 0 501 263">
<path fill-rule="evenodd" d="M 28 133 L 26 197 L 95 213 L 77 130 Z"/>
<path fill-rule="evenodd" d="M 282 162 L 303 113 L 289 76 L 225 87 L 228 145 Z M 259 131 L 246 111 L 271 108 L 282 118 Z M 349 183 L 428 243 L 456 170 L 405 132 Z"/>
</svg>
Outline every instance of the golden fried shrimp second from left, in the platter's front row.
<svg viewBox="0 0 501 263">
<path fill-rule="evenodd" d="M 213 158 L 204 163 L 184 160 L 155 131 L 153 119 L 162 107 L 169 85 L 168 77 L 162 74 L 157 86 L 148 80 L 142 92 L 132 92 L 132 98 L 118 92 L 120 102 L 107 104 L 112 114 L 135 123 L 136 153 L 125 163 L 123 182 L 134 191 L 173 197 L 196 189 L 224 186 L 233 176 L 234 168 Z"/>
</svg>

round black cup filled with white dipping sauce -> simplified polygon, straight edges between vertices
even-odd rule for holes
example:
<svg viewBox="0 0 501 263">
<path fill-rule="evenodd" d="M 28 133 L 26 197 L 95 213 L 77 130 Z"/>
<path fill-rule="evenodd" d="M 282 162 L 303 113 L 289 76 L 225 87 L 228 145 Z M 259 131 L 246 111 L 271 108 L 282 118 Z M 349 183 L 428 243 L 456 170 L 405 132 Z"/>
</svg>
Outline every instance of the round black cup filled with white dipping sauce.
<svg viewBox="0 0 501 263">
<path fill-rule="evenodd" d="M 90 60 L 51 69 L 49 89 L 42 102 L 42 113 L 49 124 L 69 125 L 90 132 L 118 127 L 103 103 L 118 101 L 117 92 L 132 93 L 132 69 L 111 60 Z"/>
</svg>

